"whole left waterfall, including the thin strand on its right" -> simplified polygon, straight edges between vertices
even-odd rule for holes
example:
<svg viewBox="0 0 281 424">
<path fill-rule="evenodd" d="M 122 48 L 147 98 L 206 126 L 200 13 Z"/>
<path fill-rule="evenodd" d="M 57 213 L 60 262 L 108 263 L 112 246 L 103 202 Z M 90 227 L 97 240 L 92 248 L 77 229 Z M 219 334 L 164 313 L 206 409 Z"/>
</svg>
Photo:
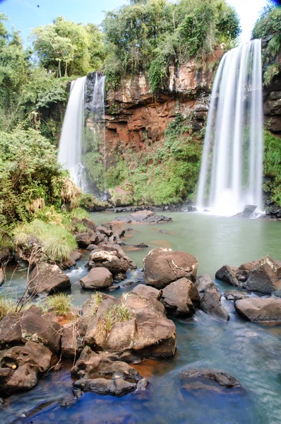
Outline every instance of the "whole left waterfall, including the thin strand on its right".
<svg viewBox="0 0 281 424">
<path fill-rule="evenodd" d="M 98 72 L 92 73 L 92 78 L 83 76 L 71 82 L 58 153 L 59 163 L 82 192 L 100 199 L 106 190 L 104 83 L 105 76 Z M 96 170 L 102 173 L 102 177 L 98 176 L 99 183 L 102 179 L 100 184 Z"/>
</svg>

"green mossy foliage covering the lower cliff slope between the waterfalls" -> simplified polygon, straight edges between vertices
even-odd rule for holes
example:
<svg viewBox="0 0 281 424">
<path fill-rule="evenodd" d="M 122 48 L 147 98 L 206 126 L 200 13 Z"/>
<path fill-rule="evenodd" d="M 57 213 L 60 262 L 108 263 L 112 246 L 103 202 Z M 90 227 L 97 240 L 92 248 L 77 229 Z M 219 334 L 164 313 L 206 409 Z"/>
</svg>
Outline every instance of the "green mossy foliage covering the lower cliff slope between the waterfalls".
<svg viewBox="0 0 281 424">
<path fill-rule="evenodd" d="M 202 142 L 189 136 L 190 117 L 177 114 L 165 131 L 164 142 L 150 153 L 140 152 L 131 158 L 136 167 L 119 160 L 107 171 L 107 186 L 133 184 L 138 204 L 174 204 L 193 199 L 201 165 Z"/>
</svg>

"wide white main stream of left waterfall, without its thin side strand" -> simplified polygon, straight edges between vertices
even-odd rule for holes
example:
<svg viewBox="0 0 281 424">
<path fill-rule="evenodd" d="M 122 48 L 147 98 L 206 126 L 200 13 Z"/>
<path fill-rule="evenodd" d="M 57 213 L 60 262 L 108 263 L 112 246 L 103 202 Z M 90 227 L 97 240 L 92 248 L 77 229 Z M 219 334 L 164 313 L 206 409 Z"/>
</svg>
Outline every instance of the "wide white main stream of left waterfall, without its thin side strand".
<svg viewBox="0 0 281 424">
<path fill-rule="evenodd" d="M 69 171 L 71 179 L 86 191 L 85 170 L 81 163 L 84 119 L 84 95 L 86 77 L 71 82 L 64 124 L 59 139 L 58 160 Z"/>
</svg>

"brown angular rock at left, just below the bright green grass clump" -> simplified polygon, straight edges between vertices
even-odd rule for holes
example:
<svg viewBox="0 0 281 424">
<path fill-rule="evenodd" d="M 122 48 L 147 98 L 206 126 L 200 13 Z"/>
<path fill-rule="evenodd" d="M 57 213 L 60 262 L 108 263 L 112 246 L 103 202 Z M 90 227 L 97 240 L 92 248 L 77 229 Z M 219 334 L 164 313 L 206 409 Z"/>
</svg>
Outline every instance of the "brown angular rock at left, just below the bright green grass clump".
<svg viewBox="0 0 281 424">
<path fill-rule="evenodd" d="M 68 290 L 71 288 L 69 277 L 59 269 L 59 266 L 41 262 L 35 265 L 28 281 L 28 293 L 39 295 L 42 292 L 48 294 Z"/>
</svg>

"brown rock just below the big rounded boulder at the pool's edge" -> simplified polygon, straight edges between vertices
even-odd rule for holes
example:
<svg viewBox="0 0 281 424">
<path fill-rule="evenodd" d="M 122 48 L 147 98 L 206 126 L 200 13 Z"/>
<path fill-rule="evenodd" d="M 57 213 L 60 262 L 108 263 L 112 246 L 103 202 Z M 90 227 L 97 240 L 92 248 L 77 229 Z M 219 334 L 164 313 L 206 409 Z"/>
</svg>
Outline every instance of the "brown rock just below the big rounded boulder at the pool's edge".
<svg viewBox="0 0 281 424">
<path fill-rule="evenodd" d="M 199 306 L 200 295 L 195 284 L 187 278 L 180 278 L 162 290 L 162 303 L 168 314 L 191 317 Z"/>
</svg>

